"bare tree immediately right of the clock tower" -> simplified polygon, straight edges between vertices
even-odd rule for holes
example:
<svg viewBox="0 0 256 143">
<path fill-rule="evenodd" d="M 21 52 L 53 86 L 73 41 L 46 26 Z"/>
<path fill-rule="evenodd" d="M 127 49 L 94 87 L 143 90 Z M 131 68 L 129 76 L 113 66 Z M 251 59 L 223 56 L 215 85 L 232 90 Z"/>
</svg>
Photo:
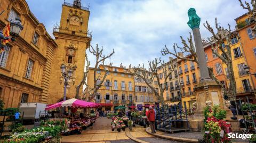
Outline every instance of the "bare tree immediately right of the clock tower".
<svg viewBox="0 0 256 143">
<path fill-rule="evenodd" d="M 113 49 L 113 52 L 111 52 L 109 55 L 105 56 L 103 54 L 103 47 L 101 47 L 101 49 L 99 48 L 98 44 L 96 46 L 96 49 L 93 48 L 92 46 L 89 47 L 89 52 L 91 54 L 93 54 L 95 56 L 95 65 L 93 68 L 93 87 L 90 87 L 86 80 L 87 80 L 87 76 L 89 73 L 89 66 L 90 66 L 90 62 L 87 58 L 87 54 L 85 54 L 85 60 L 86 60 L 86 70 L 84 72 L 84 77 L 82 79 L 82 81 L 79 83 L 78 86 L 76 86 L 76 98 L 80 99 L 81 97 L 79 96 L 79 90 L 80 88 L 85 85 L 86 86 L 86 91 L 87 91 L 87 96 L 83 96 L 82 99 L 83 100 L 87 100 L 89 102 L 92 101 L 92 99 L 96 96 L 97 91 L 100 89 L 102 83 L 105 81 L 106 77 L 107 77 L 107 73 L 109 72 L 109 70 L 107 70 L 107 68 L 105 68 L 105 61 L 107 58 L 110 58 L 115 52 Z M 104 74 L 99 74 L 97 76 L 97 69 L 99 68 L 99 65 L 102 65 L 104 68 Z M 110 66 L 112 65 L 112 63 L 110 63 Z"/>
</svg>

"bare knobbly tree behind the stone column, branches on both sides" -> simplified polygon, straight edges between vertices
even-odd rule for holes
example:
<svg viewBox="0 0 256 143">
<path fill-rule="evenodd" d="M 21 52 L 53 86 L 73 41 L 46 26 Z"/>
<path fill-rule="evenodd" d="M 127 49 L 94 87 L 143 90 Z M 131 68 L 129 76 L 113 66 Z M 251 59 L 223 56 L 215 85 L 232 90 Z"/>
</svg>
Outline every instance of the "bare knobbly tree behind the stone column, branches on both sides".
<svg viewBox="0 0 256 143">
<path fill-rule="evenodd" d="M 207 21 L 204 23 L 204 27 L 212 34 L 212 38 L 208 38 L 208 40 L 210 41 L 210 44 L 211 44 L 212 53 L 215 54 L 216 56 L 218 56 L 220 58 L 220 60 L 227 65 L 230 87 L 229 87 L 229 91 L 226 92 L 226 95 L 229 97 L 229 100 L 236 101 L 236 81 L 235 81 L 235 75 L 234 75 L 232 58 L 231 58 L 231 49 L 230 49 L 231 34 L 233 32 L 231 32 L 229 24 L 228 24 L 228 26 L 229 26 L 228 30 L 227 29 L 224 30 L 223 28 L 219 27 L 218 23 L 217 23 L 217 18 L 215 18 L 215 28 L 217 29 L 218 32 L 214 33 L 213 28 L 210 26 L 210 24 Z M 188 38 L 189 45 L 186 43 L 186 40 L 184 40 L 182 37 L 181 37 L 181 41 L 182 41 L 183 47 L 179 47 L 177 44 L 173 45 L 174 53 L 171 52 L 169 50 L 169 48 L 167 48 L 165 45 L 165 48 L 163 48 L 161 51 L 162 55 L 171 54 L 179 59 L 198 63 L 191 33 L 190 33 L 190 37 Z M 224 41 L 226 41 L 227 44 L 225 44 L 225 46 L 222 46 Z M 177 53 L 177 48 L 180 49 L 180 51 L 182 53 L 191 54 L 190 56 L 192 58 L 186 58 L 186 57 L 179 56 L 179 54 Z M 219 49 L 219 51 L 221 51 L 222 55 L 220 53 L 218 53 L 217 49 Z M 209 75 L 210 75 L 211 79 L 220 83 L 217 80 L 217 78 L 215 78 L 215 76 L 213 74 L 213 69 L 210 67 L 208 67 L 208 69 L 209 69 Z M 236 104 L 236 102 L 235 102 L 235 104 Z M 236 105 L 236 107 L 237 107 L 237 105 Z"/>
</svg>

